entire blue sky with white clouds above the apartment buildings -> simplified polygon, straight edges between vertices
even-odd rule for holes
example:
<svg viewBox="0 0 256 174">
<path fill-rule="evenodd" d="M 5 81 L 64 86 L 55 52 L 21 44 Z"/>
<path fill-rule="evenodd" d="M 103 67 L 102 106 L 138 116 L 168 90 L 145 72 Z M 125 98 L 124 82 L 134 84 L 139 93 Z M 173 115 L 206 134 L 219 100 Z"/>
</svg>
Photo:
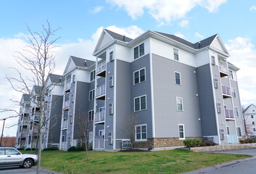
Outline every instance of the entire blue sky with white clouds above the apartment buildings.
<svg viewBox="0 0 256 174">
<path fill-rule="evenodd" d="M 18 67 L 16 51 L 28 44 L 28 28 L 41 31 L 49 20 L 51 28 L 61 28 L 55 54 L 54 73 L 62 75 L 68 57 L 94 59 L 91 55 L 107 28 L 136 38 L 146 30 L 174 34 L 195 43 L 216 33 L 240 68 L 237 72 L 241 104 L 256 104 L 256 1 L 247 0 L 9 0 L 0 2 L 0 108 L 16 109 L 12 102 L 21 95 L 9 85 L 5 75 L 17 75 L 9 67 Z M 22 71 L 24 75 L 28 72 Z M 4 117 L 0 113 L 0 130 Z M 16 136 L 17 118 L 8 119 L 4 136 Z"/>
</svg>

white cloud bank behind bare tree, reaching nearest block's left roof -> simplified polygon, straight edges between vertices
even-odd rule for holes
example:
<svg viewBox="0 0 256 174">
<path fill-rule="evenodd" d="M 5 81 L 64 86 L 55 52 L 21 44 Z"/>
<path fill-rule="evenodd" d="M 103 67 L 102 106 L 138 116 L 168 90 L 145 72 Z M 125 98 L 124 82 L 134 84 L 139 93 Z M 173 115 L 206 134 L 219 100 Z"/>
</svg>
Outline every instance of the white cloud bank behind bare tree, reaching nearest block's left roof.
<svg viewBox="0 0 256 174">
<path fill-rule="evenodd" d="M 127 28 L 119 28 L 115 25 L 111 25 L 107 27 L 107 29 L 130 38 L 136 38 L 136 36 L 144 33 L 144 30 L 138 28 L 136 25 L 131 25 Z M 96 32 L 92 34 L 90 39 L 78 38 L 77 42 L 59 43 L 59 47 L 54 50 L 57 51 L 55 59 L 56 68 L 54 73 L 62 75 L 65 65 L 67 64 L 67 59 L 70 57 L 70 55 L 95 60 L 92 53 L 94 51 L 94 47 L 96 46 L 96 42 L 102 33 L 102 30 L 103 27 L 98 28 Z M 4 78 L 4 75 L 7 74 L 11 77 L 15 77 L 15 75 L 17 75 L 15 71 L 10 70 L 8 67 L 19 67 L 13 55 L 15 55 L 15 51 L 22 51 L 22 48 L 25 48 L 26 45 L 27 43 L 25 42 L 25 35 L 23 33 L 15 35 L 14 38 L 0 38 L 0 108 L 16 109 L 17 111 L 19 110 L 19 106 L 9 99 L 20 101 L 22 94 L 12 89 L 7 79 Z M 22 75 L 30 76 L 31 74 L 30 72 L 25 72 L 21 68 L 19 70 L 22 71 Z M 11 115 L 13 115 L 13 113 L 1 113 L 0 120 Z M 11 126 L 13 127 L 7 128 Z M 2 121 L 0 121 L 0 130 L 1 128 Z M 16 132 L 17 118 L 8 119 L 5 123 L 4 136 L 16 136 Z"/>
</svg>

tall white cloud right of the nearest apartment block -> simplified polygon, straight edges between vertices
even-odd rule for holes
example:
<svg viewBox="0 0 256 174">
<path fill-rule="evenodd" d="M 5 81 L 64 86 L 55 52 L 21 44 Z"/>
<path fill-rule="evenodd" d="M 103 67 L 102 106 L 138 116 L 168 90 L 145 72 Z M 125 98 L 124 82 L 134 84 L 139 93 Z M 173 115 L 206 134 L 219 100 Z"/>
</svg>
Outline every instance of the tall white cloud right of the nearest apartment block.
<svg viewBox="0 0 256 174">
<path fill-rule="evenodd" d="M 256 104 L 256 48 L 247 37 L 231 39 L 226 44 L 229 61 L 240 68 L 237 72 L 241 104 Z"/>
</svg>

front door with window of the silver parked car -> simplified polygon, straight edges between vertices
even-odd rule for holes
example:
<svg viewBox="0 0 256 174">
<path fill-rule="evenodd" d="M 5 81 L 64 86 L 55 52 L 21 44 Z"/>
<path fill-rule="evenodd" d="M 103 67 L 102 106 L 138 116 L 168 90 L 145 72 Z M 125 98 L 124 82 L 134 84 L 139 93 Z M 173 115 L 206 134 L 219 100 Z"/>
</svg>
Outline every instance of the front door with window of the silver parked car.
<svg viewBox="0 0 256 174">
<path fill-rule="evenodd" d="M 15 149 L 5 149 L 5 165 L 20 165 L 22 163 L 22 155 Z"/>
</svg>

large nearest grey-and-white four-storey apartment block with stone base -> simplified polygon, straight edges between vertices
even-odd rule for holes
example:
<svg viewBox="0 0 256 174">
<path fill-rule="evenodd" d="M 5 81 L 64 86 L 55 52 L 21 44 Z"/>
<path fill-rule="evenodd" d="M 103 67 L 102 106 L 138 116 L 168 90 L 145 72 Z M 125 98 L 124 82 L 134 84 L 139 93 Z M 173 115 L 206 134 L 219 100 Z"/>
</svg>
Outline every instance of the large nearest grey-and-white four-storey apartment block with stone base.
<svg viewBox="0 0 256 174">
<path fill-rule="evenodd" d="M 218 34 L 190 43 L 152 30 L 131 39 L 104 29 L 93 55 L 94 111 L 107 107 L 104 119 L 94 118 L 94 149 L 120 149 L 132 129 L 133 146 L 140 148 L 244 138 L 239 68 L 228 62 Z"/>
</svg>

